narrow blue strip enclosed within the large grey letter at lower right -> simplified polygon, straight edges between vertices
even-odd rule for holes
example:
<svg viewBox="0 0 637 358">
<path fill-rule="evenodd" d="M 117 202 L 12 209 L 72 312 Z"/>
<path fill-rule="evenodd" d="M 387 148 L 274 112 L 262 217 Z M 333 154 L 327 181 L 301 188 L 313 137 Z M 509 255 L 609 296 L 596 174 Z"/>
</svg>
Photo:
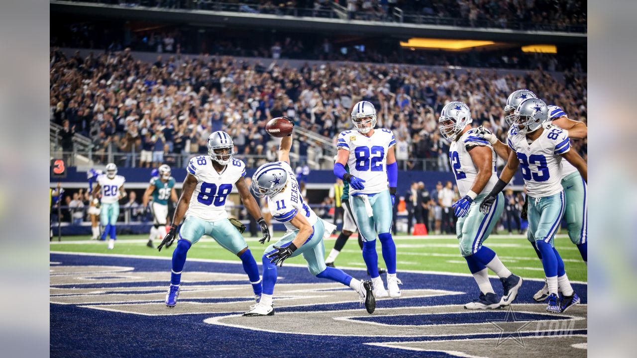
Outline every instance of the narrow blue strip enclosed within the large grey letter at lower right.
<svg viewBox="0 0 637 358">
<path fill-rule="evenodd" d="M 491 321 L 506 319 L 508 311 L 465 311 L 462 313 L 443 313 L 437 315 L 394 315 L 394 316 L 369 316 L 354 317 L 351 320 L 363 322 L 376 322 L 380 324 L 390 324 L 396 326 L 429 326 L 433 324 L 466 324 L 466 323 L 489 323 Z M 540 315 L 537 313 L 515 312 L 515 322 L 538 321 L 538 320 L 568 320 L 568 316 L 558 316 L 547 313 Z"/>
</svg>

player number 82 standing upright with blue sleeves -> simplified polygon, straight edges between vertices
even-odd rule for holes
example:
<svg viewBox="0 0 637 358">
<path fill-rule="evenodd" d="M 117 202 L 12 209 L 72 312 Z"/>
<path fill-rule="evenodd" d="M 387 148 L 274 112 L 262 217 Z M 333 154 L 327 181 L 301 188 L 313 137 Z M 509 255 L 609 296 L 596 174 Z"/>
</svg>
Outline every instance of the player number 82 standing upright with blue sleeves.
<svg viewBox="0 0 637 358">
<path fill-rule="evenodd" d="M 350 183 L 350 207 L 362 235 L 362 257 L 374 283 L 374 294 L 377 298 L 400 297 L 396 245 L 390 233 L 398 182 L 398 164 L 394 155 L 396 140 L 389 129 L 374 129 L 376 110 L 368 101 L 354 105 L 352 122 L 355 131 L 344 131 L 338 135 L 334 175 Z M 349 173 L 345 170 L 346 164 Z M 376 233 L 387 266 L 389 293 L 378 273 Z"/>
</svg>

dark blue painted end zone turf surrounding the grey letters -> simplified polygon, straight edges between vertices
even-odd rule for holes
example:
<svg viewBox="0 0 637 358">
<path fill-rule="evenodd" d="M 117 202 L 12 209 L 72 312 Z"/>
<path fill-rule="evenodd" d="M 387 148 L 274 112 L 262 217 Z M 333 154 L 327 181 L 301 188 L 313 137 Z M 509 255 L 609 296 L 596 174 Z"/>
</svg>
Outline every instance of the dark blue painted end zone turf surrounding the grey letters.
<svg viewBox="0 0 637 358">
<path fill-rule="evenodd" d="M 51 254 L 50 261 L 61 262 L 64 266 L 104 265 L 127 266 L 134 271 L 166 272 L 165 282 L 113 283 L 103 285 L 75 285 L 75 287 L 145 287 L 166 285 L 171 269 L 169 260 L 138 259 L 124 257 L 103 257 L 91 255 Z M 59 265 L 55 265 L 59 266 Z M 189 271 L 239 273 L 245 275 L 241 261 L 236 264 L 217 262 L 187 261 L 183 277 L 187 279 Z M 129 271 L 130 272 L 130 271 Z M 306 268 L 283 266 L 279 269 L 284 279 L 281 283 L 325 283 L 310 275 Z M 367 278 L 365 271 L 347 270 L 355 278 Z M 116 276 L 118 273 L 108 273 Z M 427 275 L 417 273 L 399 273 L 404 285 L 402 289 L 439 289 L 468 292 L 466 294 L 379 301 L 378 307 L 428 306 L 438 304 L 462 304 L 478 296 L 478 288 L 472 277 Z M 249 287 L 248 277 L 245 282 L 215 282 L 216 284 L 245 283 Z M 211 283 L 183 283 L 188 285 L 209 285 Z M 502 292 L 498 280 L 492 280 L 496 292 Z M 56 287 L 67 287 L 59 285 Z M 525 281 L 516 303 L 534 303 L 533 294 L 543 286 L 543 282 Z M 587 286 L 574 284 L 573 289 L 587 302 Z M 158 292 L 157 301 L 164 299 L 165 292 Z M 250 302 L 246 297 L 246 302 Z M 238 299 L 240 300 L 240 299 Z M 237 300 L 237 301 L 238 301 Z M 191 301 L 191 300 L 188 300 Z M 214 299 L 194 299 L 192 301 L 215 302 Z M 320 304 L 303 307 L 277 308 L 278 311 L 317 311 L 360 309 L 358 303 Z M 168 310 L 168 308 L 166 308 Z M 567 312 L 568 313 L 568 312 Z M 498 315 L 496 313 L 496 315 Z M 522 313 L 516 313 L 516 317 Z M 340 336 L 304 336 L 282 333 L 265 333 L 225 326 L 213 326 L 204 323 L 204 319 L 224 314 L 193 314 L 176 316 L 143 316 L 128 313 L 78 308 L 73 304 L 50 304 L 50 356 L 51 357 L 251 357 L 268 352 L 270 356 L 287 357 L 349 357 L 349 356 L 391 356 L 396 358 L 413 357 L 415 352 L 395 348 L 363 345 L 374 341 L 422 341 L 462 339 L 468 336 L 412 337 L 412 338 L 369 338 Z M 461 316 L 461 315 L 458 315 Z M 466 315 L 464 322 L 469 322 Z M 528 318 L 528 317 L 527 317 Z M 501 319 L 499 316 L 494 320 Z M 395 321 L 391 324 L 398 324 Z M 573 331 L 573 334 L 586 334 L 585 330 Z M 535 333 L 523 334 L 533 336 Z M 485 334 L 483 338 L 497 338 L 497 334 Z M 471 338 L 478 338 L 472 336 Z M 290 342 L 289 344 L 283 344 Z M 280 347 L 280 348 L 278 348 Z M 310 347 L 310 348 L 308 348 Z M 311 349 L 311 347 L 320 347 Z M 277 350 L 279 349 L 279 350 Z M 422 352 L 421 352 L 422 353 Z M 422 354 L 419 354 L 422 356 Z M 441 352 L 427 352 L 427 357 L 452 357 Z"/>
</svg>

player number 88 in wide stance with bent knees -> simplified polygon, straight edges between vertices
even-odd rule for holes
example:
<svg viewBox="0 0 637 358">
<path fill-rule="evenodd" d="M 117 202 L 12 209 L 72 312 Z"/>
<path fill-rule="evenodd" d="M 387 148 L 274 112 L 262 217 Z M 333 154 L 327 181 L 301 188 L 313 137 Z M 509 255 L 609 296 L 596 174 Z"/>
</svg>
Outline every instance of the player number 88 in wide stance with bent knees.
<svg viewBox="0 0 637 358">
<path fill-rule="evenodd" d="M 225 199 L 236 185 L 241 201 L 248 213 L 259 225 L 263 237 L 260 242 L 270 240 L 268 224 L 261 217 L 261 210 L 248 186 L 245 184 L 245 164 L 234 159 L 234 143 L 226 132 L 217 131 L 208 137 L 208 155 L 201 155 L 190 159 L 187 174 L 183 180 L 182 196 L 179 198 L 173 224 L 168 234 L 157 247 L 159 251 L 166 245 L 170 247 L 175 240 L 177 226 L 185 220 L 179 230 L 177 247 L 173 251 L 173 269 L 170 287 L 166 293 L 166 306 L 174 307 L 179 296 L 179 285 L 182 280 L 183 265 L 186 254 L 201 236 L 212 236 L 215 241 L 226 250 L 237 255 L 243 262 L 243 269 L 250 278 L 255 300 L 261 297 L 261 277 L 257 262 L 254 261 L 248 244 L 243 238 L 245 226 L 238 220 L 229 220 L 225 211 Z"/>
</svg>

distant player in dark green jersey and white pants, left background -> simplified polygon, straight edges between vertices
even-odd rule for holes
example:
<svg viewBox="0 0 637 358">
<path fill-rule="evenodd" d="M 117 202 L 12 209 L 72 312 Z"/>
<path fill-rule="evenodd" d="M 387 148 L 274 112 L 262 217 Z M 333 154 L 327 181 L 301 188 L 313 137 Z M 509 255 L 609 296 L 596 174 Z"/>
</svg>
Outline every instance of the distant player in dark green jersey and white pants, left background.
<svg viewBox="0 0 637 358">
<path fill-rule="evenodd" d="M 177 191 L 175 190 L 175 178 L 170 176 L 170 167 L 166 164 L 159 166 L 157 176 L 150 179 L 150 184 L 144 192 L 142 207 L 148 207 L 150 196 L 153 202 L 150 204 L 150 211 L 153 213 L 153 226 L 150 228 L 150 238 L 147 247 L 153 247 L 153 239 L 160 239 L 166 235 L 166 217 L 168 217 L 168 198 L 177 203 Z"/>
</svg>

